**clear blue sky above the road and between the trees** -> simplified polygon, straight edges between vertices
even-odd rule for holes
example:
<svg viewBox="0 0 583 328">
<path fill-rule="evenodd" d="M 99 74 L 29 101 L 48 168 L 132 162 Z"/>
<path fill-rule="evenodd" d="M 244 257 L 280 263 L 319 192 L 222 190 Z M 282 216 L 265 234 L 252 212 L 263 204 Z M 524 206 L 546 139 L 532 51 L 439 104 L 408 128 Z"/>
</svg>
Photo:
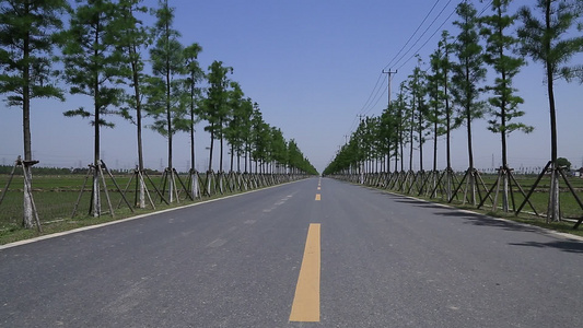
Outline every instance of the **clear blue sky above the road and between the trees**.
<svg viewBox="0 0 583 328">
<path fill-rule="evenodd" d="M 513 8 L 532 2 L 516 0 Z M 155 0 L 144 3 L 158 5 Z M 441 30 L 456 35 L 452 26 L 455 14 L 446 19 L 457 1 L 447 0 L 171 0 L 170 3 L 176 8 L 175 28 L 182 33 L 180 42 L 185 46 L 195 42 L 202 46 L 201 67 L 208 68 L 213 60 L 233 67 L 232 80 L 240 82 L 245 95 L 259 104 L 264 119 L 281 128 L 287 139 L 295 139 L 320 172 L 345 142 L 345 136 L 355 129 L 358 115 L 380 115 L 386 107 L 387 84 L 382 70 L 398 69 L 393 79 L 395 94 L 397 85 L 417 63 L 415 59 L 407 59 L 418 51 L 427 61 L 436 47 Z M 481 11 L 489 1 L 474 3 Z M 392 61 L 425 15 L 418 33 L 396 57 L 405 54 L 403 60 Z M 572 62 L 582 61 L 582 56 L 578 56 Z M 539 63 L 529 62 L 515 81 L 525 99 L 522 108 L 526 116 L 521 121 L 535 127 L 530 134 L 515 132 L 510 137 L 509 161 L 516 168 L 541 167 L 550 157 L 543 73 Z M 488 82 L 491 81 L 490 75 Z M 581 84 L 562 81 L 556 87 L 559 156 L 569 159 L 576 167 L 583 162 L 582 91 Z M 89 97 L 71 95 L 66 103 L 33 102 L 33 153 L 40 165 L 78 167 L 92 162 L 93 131 L 89 121 L 62 116 L 65 110 L 91 107 L 91 104 Z M 0 163 L 11 164 L 22 154 L 22 113 L 0 104 Z M 103 159 L 110 167 L 131 168 L 137 162 L 135 127 L 120 118 L 110 119 L 116 128 L 102 132 Z M 210 140 L 202 132 L 203 124 L 198 126 L 196 140 L 199 169 L 205 168 L 209 156 L 205 148 Z M 479 168 L 491 168 L 492 162 L 498 166 L 501 157 L 499 136 L 486 128 L 486 119 L 475 122 L 475 160 Z M 465 128 L 454 132 L 453 145 L 454 168 L 465 169 Z M 427 168 L 432 153 L 430 147 L 425 148 Z M 440 167 L 443 167 L 442 140 L 440 148 Z M 187 169 L 189 141 L 185 133 L 176 136 L 174 149 L 175 166 L 179 171 Z M 144 156 L 148 167 L 165 166 L 166 140 L 148 130 Z M 218 159 L 217 153 L 215 156 Z M 415 161 L 418 161 L 417 154 Z"/>
</svg>

